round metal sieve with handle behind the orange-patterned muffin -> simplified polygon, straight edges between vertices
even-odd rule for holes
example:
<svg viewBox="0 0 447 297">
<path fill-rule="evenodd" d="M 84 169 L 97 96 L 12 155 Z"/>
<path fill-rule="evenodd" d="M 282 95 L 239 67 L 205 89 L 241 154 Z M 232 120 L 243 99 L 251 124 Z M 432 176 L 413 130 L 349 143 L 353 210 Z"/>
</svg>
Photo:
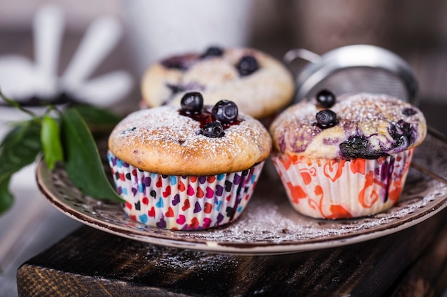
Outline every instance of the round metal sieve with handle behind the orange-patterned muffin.
<svg viewBox="0 0 447 297">
<path fill-rule="evenodd" d="M 343 46 L 322 56 L 303 48 L 288 51 L 289 68 L 296 59 L 307 61 L 296 73 L 294 102 L 312 98 L 319 90 L 345 93 L 385 93 L 418 105 L 418 85 L 410 66 L 395 53 L 378 46 Z"/>
</svg>

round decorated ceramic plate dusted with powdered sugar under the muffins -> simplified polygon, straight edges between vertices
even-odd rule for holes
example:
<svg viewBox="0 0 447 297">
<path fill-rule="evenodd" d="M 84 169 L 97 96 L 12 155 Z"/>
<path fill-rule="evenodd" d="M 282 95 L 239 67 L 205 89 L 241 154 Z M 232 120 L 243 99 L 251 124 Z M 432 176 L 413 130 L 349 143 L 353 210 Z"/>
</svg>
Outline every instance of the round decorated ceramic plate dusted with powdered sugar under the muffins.
<svg viewBox="0 0 447 297">
<path fill-rule="evenodd" d="M 36 179 L 41 192 L 64 214 L 118 236 L 151 244 L 231 254 L 285 254 L 325 249 L 375 239 L 418 224 L 447 206 L 447 142 L 428 135 L 416 148 L 399 203 L 372 217 L 311 219 L 296 213 L 281 182 L 263 174 L 248 207 L 232 224 L 205 231 L 170 231 L 126 217 L 121 205 L 86 197 L 63 168 L 49 171 L 40 162 Z M 268 170 L 266 170 L 268 172 Z"/>
</svg>

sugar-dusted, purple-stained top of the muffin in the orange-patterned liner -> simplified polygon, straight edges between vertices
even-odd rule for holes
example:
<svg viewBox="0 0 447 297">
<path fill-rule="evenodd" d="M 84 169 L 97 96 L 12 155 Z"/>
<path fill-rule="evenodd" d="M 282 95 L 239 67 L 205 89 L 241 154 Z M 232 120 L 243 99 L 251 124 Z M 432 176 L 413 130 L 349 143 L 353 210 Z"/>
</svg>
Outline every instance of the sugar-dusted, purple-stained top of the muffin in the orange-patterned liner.
<svg viewBox="0 0 447 297">
<path fill-rule="evenodd" d="M 325 159 L 377 159 L 416 147 L 426 137 L 421 110 L 403 100 L 358 93 L 336 98 L 329 106 L 324 98 L 327 93 L 334 96 L 323 92 L 326 97 L 303 100 L 273 121 L 270 132 L 276 152 Z"/>
</svg>

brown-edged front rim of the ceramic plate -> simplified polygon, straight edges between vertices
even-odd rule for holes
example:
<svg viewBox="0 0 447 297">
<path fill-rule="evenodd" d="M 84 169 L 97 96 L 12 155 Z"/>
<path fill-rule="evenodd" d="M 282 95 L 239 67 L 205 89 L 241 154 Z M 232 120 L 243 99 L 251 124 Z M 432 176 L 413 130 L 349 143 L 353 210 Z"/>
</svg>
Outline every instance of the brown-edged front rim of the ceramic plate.
<svg viewBox="0 0 447 297">
<path fill-rule="evenodd" d="M 61 169 L 64 170 L 64 169 Z M 138 232 L 134 229 L 127 229 L 125 227 L 116 226 L 105 222 L 104 220 L 89 217 L 86 214 L 82 214 L 78 210 L 69 207 L 57 197 L 57 195 L 48 189 L 44 182 L 44 175 L 47 174 L 51 177 L 51 171 L 46 167 L 43 160 L 38 162 L 36 166 L 36 182 L 40 191 L 44 194 L 46 199 L 53 204 L 53 206 L 60 212 L 66 214 L 72 219 L 76 219 L 87 226 L 94 227 L 101 231 L 114 234 L 116 236 L 126 237 L 128 239 L 134 239 L 138 241 L 144 241 L 149 244 L 158 244 L 164 246 L 171 246 L 180 249 L 192 249 L 196 251 L 217 252 L 222 254 L 241 254 L 241 255 L 274 255 L 274 254 L 292 254 L 303 251 L 313 251 L 318 249 L 333 248 L 338 246 L 345 246 L 348 244 L 356 244 L 358 242 L 368 241 L 376 239 L 388 234 L 393 234 L 403 229 L 407 229 L 420 222 L 433 217 L 438 212 L 441 212 L 447 207 L 447 195 L 441 198 L 434 206 L 425 209 L 423 212 L 409 216 L 407 219 L 398 220 L 382 226 L 377 226 L 371 230 L 363 230 L 362 234 L 339 234 L 334 239 L 314 238 L 306 239 L 305 242 L 297 241 L 281 241 L 280 243 L 268 242 L 268 243 L 249 243 L 249 242 L 227 242 L 227 241 L 213 241 L 206 239 L 189 239 L 189 238 L 173 238 L 168 234 L 143 234 L 144 231 Z M 256 193 L 255 193 L 256 194 Z M 92 199 L 92 198 L 91 198 Z M 116 204 L 119 206 L 119 202 L 107 202 Z M 121 207 L 120 207 L 121 208 Z M 126 220 L 131 220 L 129 217 Z M 155 230 L 159 230 L 156 227 Z M 163 230 L 161 230 L 163 231 Z M 169 230 L 171 231 L 171 230 Z M 177 232 L 190 232 L 190 231 L 177 231 Z M 199 231 L 206 232 L 206 231 Z"/>
</svg>

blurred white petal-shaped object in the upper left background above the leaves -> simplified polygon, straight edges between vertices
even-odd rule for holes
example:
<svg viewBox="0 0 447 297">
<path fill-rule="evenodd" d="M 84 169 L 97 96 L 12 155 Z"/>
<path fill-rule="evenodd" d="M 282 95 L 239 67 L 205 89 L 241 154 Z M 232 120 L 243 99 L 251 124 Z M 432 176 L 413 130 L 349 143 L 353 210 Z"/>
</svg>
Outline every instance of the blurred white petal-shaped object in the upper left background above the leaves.
<svg viewBox="0 0 447 297">
<path fill-rule="evenodd" d="M 0 57 L 0 88 L 9 98 L 24 101 L 37 96 L 51 100 L 60 93 L 69 93 L 84 103 L 105 107 L 131 91 L 133 79 L 126 71 L 91 78 L 122 37 L 117 19 L 104 16 L 89 25 L 61 78 L 57 68 L 64 33 L 63 11 L 51 4 L 42 6 L 34 16 L 33 33 L 34 63 L 16 55 Z"/>
</svg>

